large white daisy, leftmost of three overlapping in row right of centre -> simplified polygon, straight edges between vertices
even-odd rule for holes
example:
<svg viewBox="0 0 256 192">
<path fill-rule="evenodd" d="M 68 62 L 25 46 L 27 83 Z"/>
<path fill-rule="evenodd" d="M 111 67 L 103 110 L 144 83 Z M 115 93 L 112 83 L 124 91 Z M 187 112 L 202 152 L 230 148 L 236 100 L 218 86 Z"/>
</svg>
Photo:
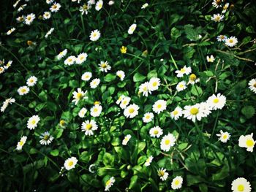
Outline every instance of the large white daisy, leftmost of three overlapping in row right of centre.
<svg viewBox="0 0 256 192">
<path fill-rule="evenodd" d="M 200 104 L 185 106 L 183 113 L 184 113 L 184 118 L 192 120 L 193 122 L 195 122 L 196 119 L 201 120 L 203 117 L 203 112 L 200 110 Z"/>
</svg>

